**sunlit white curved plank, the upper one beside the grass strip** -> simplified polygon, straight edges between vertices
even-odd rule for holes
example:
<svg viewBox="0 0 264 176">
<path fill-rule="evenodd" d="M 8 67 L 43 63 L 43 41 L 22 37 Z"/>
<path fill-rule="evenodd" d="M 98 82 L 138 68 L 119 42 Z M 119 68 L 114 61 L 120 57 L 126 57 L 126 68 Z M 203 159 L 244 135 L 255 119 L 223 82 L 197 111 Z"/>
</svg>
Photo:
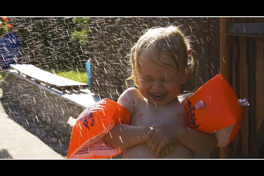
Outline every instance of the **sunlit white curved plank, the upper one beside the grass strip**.
<svg viewBox="0 0 264 176">
<path fill-rule="evenodd" d="M 41 70 L 31 64 L 10 64 L 11 67 L 18 70 L 19 72 L 28 75 L 31 78 L 44 82 L 45 84 L 54 85 L 54 87 L 86 87 L 87 84 L 80 83 L 74 80 L 70 80 L 58 75 Z"/>
</svg>

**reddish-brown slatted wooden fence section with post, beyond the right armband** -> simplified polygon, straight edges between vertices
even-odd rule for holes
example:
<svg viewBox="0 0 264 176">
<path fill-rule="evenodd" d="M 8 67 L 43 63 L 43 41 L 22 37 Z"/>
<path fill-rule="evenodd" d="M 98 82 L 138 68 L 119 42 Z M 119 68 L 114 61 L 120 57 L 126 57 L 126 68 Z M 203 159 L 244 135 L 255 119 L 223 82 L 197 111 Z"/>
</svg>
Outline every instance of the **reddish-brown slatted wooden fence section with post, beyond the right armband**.
<svg viewBox="0 0 264 176">
<path fill-rule="evenodd" d="M 232 145 L 221 148 L 220 158 L 264 158 L 264 18 L 220 18 L 220 70 L 243 108 L 241 131 Z"/>
</svg>

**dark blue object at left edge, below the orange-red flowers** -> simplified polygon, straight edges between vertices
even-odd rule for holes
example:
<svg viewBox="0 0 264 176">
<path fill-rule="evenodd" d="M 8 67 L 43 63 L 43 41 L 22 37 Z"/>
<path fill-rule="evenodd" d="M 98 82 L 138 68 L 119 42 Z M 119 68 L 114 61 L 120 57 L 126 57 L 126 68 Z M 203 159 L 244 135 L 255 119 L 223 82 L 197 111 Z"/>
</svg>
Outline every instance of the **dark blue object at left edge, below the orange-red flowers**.
<svg viewBox="0 0 264 176">
<path fill-rule="evenodd" d="M 0 37 L 0 70 L 9 69 L 10 64 L 17 64 L 20 58 L 17 34 L 8 33 Z"/>
</svg>

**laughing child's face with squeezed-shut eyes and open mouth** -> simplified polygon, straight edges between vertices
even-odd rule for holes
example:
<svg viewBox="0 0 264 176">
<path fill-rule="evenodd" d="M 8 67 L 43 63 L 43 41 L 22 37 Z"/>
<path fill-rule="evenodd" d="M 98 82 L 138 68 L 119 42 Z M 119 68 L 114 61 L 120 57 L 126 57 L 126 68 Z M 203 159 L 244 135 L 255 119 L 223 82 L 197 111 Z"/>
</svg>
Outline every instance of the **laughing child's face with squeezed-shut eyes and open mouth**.
<svg viewBox="0 0 264 176">
<path fill-rule="evenodd" d="M 157 49 L 143 51 L 139 64 L 139 91 L 151 104 L 165 106 L 178 96 L 188 73 L 179 69 L 177 74 L 177 66 L 167 53 Z"/>
</svg>

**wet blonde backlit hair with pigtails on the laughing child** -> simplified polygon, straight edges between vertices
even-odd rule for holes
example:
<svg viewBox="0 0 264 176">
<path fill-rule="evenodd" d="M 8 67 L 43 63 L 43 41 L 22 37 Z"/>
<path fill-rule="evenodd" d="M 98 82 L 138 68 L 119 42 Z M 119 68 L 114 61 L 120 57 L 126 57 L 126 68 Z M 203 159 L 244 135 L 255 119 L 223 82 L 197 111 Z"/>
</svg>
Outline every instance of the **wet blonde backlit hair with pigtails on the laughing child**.
<svg viewBox="0 0 264 176">
<path fill-rule="evenodd" d="M 178 51 L 177 44 L 181 44 L 184 48 L 184 51 Z M 186 67 L 190 67 L 190 77 L 196 83 L 197 90 L 200 83 L 198 72 L 198 61 L 197 54 L 195 51 L 191 51 L 191 56 L 188 56 L 188 50 L 190 48 L 190 41 L 183 34 L 177 26 L 168 26 L 166 28 L 151 28 L 144 32 L 144 34 L 139 38 L 138 42 L 132 47 L 130 58 L 132 73 L 129 79 L 133 79 L 134 84 L 138 85 L 138 74 L 140 74 L 140 65 L 139 65 L 139 55 L 143 51 L 148 51 L 150 49 L 158 49 L 166 52 L 171 58 L 175 61 L 177 65 L 177 71 L 180 68 L 182 71 L 186 71 Z M 177 58 L 180 53 L 185 53 L 181 55 L 181 58 Z M 194 92 L 191 91 L 191 92 Z M 185 91 L 186 93 L 186 91 Z"/>
</svg>

